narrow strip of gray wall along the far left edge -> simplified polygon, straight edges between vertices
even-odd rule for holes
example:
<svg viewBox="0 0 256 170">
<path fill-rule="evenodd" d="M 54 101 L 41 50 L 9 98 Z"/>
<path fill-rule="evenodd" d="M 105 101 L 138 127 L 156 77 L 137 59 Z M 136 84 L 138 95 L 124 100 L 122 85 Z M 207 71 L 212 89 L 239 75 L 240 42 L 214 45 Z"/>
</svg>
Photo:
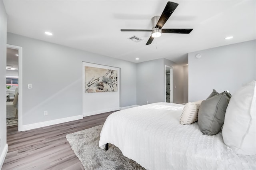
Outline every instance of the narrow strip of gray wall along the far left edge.
<svg viewBox="0 0 256 170">
<path fill-rule="evenodd" d="M 0 0 L 0 157 L 4 158 L 6 146 L 6 31 L 7 14 L 3 1 Z M 4 163 L 0 160 L 0 168 Z"/>
</svg>

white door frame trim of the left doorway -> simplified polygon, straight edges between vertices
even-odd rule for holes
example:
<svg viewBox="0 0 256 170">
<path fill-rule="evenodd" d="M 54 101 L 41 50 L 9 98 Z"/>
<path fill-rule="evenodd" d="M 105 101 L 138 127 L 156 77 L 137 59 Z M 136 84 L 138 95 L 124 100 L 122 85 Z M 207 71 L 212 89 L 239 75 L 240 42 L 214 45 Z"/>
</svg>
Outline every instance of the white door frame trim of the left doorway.
<svg viewBox="0 0 256 170">
<path fill-rule="evenodd" d="M 22 131 L 22 47 L 17 45 L 7 44 L 6 48 L 18 50 L 18 131 Z"/>
</svg>

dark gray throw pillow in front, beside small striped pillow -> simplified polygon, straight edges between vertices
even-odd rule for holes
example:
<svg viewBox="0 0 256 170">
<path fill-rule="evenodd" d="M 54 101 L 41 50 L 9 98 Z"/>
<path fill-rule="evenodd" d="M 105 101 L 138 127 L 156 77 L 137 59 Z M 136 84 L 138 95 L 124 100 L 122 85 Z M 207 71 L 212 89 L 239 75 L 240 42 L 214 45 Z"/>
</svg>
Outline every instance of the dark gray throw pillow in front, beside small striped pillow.
<svg viewBox="0 0 256 170">
<path fill-rule="evenodd" d="M 229 101 L 226 94 L 202 101 L 198 111 L 198 125 L 203 134 L 214 135 L 220 131 Z"/>
</svg>

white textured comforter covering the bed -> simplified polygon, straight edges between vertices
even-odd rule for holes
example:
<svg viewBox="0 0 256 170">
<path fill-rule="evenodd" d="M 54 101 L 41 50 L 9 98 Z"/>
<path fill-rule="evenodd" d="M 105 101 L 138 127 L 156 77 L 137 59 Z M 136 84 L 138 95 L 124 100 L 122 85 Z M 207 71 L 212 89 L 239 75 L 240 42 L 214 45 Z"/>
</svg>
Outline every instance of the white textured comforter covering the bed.
<svg viewBox="0 0 256 170">
<path fill-rule="evenodd" d="M 112 113 L 99 146 L 117 146 L 124 156 L 150 170 L 256 169 L 256 155 L 235 154 L 222 133 L 202 135 L 198 123 L 180 125 L 184 105 L 153 103 Z"/>
</svg>

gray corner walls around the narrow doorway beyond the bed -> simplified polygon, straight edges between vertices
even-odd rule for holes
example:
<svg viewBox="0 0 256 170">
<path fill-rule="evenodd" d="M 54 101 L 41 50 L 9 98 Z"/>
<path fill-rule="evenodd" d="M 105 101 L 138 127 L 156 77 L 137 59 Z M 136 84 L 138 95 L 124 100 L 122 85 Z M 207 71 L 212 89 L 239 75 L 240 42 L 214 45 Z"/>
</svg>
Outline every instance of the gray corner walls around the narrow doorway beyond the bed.
<svg viewBox="0 0 256 170">
<path fill-rule="evenodd" d="M 183 103 L 183 67 L 165 59 L 137 63 L 137 105 L 165 101 L 165 65 L 173 67 L 174 103 Z"/>
</svg>

